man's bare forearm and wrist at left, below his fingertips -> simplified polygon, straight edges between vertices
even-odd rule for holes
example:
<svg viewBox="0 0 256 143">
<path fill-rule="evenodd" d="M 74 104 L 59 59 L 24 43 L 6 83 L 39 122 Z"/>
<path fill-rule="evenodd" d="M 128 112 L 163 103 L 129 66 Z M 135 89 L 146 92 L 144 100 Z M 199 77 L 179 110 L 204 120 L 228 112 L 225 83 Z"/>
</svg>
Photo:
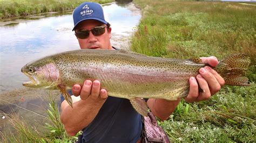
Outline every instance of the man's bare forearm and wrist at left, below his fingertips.
<svg viewBox="0 0 256 143">
<path fill-rule="evenodd" d="M 64 124 L 66 132 L 73 136 L 89 125 L 96 117 L 103 103 L 104 100 L 102 99 L 96 101 L 89 97 L 86 100 L 74 103 L 73 108 L 69 105 L 65 106 L 65 108 L 62 106 L 60 120 Z"/>
</svg>

